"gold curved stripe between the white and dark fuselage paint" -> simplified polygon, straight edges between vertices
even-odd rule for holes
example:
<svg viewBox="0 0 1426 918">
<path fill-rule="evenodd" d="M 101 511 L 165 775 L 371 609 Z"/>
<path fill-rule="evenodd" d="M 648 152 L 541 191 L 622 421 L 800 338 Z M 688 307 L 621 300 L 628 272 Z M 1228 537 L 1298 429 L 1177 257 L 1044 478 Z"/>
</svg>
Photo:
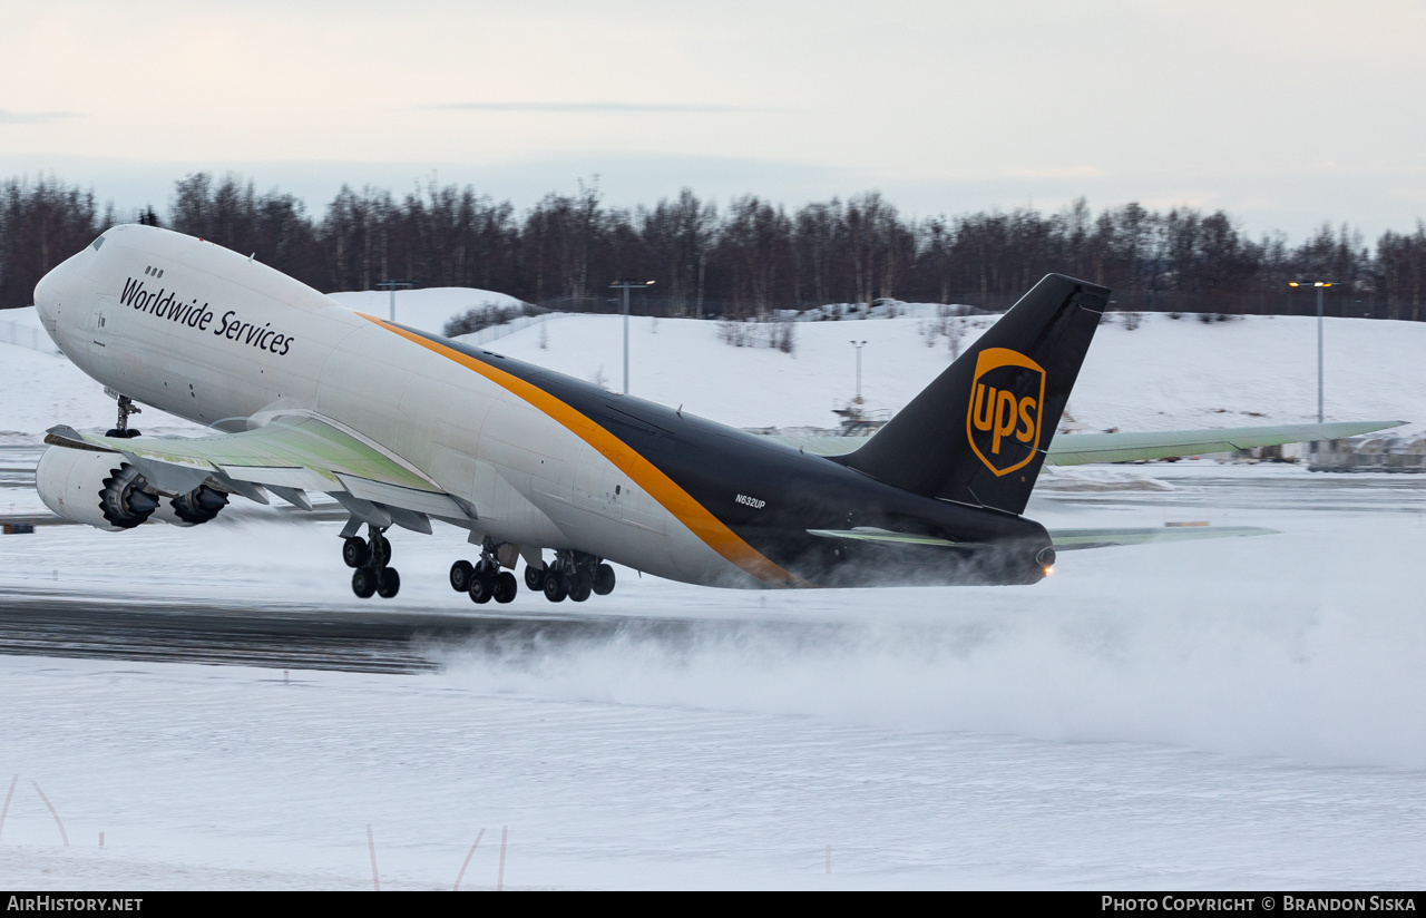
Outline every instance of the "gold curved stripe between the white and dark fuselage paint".
<svg viewBox="0 0 1426 918">
<path fill-rule="evenodd" d="M 406 341 L 421 345 L 426 351 L 439 354 L 443 358 L 455 361 L 456 363 L 481 373 L 491 382 L 525 399 L 543 413 L 549 415 L 575 433 L 575 436 L 603 453 L 625 475 L 637 482 L 640 488 L 663 505 L 663 507 L 680 523 L 687 526 L 689 532 L 702 539 L 704 545 L 759 580 L 777 586 L 816 586 L 790 570 L 783 569 L 780 564 L 750 546 L 737 533 L 729 529 L 727 525 L 717 519 L 707 507 L 694 500 L 689 492 L 679 488 L 679 485 L 665 475 L 656 465 L 635 452 L 617 436 L 603 429 L 549 392 L 525 379 L 520 379 L 519 376 L 508 373 L 498 366 L 491 366 L 489 363 L 478 361 L 466 354 L 461 354 L 459 351 L 441 342 L 431 341 L 429 338 L 424 338 L 364 312 L 358 312 L 356 315 L 375 322 L 396 335 L 401 335 Z"/>
</svg>

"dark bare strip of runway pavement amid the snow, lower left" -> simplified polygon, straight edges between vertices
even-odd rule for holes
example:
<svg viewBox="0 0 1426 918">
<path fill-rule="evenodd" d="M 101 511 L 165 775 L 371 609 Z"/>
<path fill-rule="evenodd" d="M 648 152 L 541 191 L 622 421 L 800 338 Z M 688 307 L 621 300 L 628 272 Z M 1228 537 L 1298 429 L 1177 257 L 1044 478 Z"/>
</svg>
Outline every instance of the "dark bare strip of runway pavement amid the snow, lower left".
<svg viewBox="0 0 1426 918">
<path fill-rule="evenodd" d="M 789 637 L 836 626 L 683 617 L 429 614 L 366 612 L 342 604 L 154 602 L 137 596 L 64 596 L 0 590 L 0 654 L 422 673 L 452 650 L 518 659 L 616 639 L 689 644 L 714 631 L 754 627 Z M 522 614 L 523 613 L 523 614 Z"/>
</svg>

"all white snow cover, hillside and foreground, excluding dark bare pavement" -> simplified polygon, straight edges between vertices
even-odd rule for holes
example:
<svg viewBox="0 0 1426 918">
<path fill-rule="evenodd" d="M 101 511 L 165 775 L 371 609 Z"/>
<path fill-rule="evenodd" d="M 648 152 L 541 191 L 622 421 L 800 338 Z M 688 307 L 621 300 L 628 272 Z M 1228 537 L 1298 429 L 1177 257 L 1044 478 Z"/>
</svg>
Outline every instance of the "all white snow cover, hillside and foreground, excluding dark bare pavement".
<svg viewBox="0 0 1426 918">
<path fill-rule="evenodd" d="M 864 388 L 888 408 L 945 365 L 945 339 L 927 348 L 918 321 L 801 324 L 783 355 L 732 348 L 712 324 L 635 319 L 632 389 L 740 426 L 826 425 L 851 395 L 850 338 L 870 342 Z M 585 378 L 602 366 L 620 385 L 616 316 L 545 329 L 545 348 L 535 328 L 492 349 Z M 1422 334 L 1329 321 L 1329 418 L 1420 421 Z M 1124 429 L 1308 419 L 1313 335 L 1286 318 L 1109 325 L 1072 409 Z M 0 368 L 17 462 L 51 423 L 111 422 L 98 383 L 61 358 L 0 345 Z M 0 510 L 29 502 L 0 489 Z M 482 828 L 462 888 L 492 888 L 502 827 L 506 888 L 1426 881 L 1426 482 L 1079 468 L 1045 480 L 1028 513 L 1282 535 L 1065 553 L 1034 587 L 759 594 L 620 570 L 613 596 L 580 609 L 720 629 L 451 647 L 422 676 L 284 684 L 244 667 L 0 656 L 0 794 L 17 777 L 0 877 L 371 888 L 371 825 L 382 888 L 451 888 Z M 376 606 L 351 596 L 337 529 L 260 507 L 195 529 L 44 527 L 0 536 L 0 592 L 475 609 L 445 584 L 463 533 L 396 533 L 402 592 Z M 502 607 L 520 610 L 550 607 L 526 593 Z"/>
</svg>

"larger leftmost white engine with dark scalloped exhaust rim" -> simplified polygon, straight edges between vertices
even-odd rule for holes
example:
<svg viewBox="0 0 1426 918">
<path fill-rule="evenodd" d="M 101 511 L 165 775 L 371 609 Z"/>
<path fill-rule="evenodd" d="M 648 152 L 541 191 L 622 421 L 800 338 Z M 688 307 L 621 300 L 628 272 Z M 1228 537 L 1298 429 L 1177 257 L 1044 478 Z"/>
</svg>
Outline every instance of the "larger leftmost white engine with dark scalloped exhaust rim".
<svg viewBox="0 0 1426 918">
<path fill-rule="evenodd" d="M 158 509 L 158 495 L 118 453 L 50 446 L 34 469 L 40 500 L 64 519 L 97 529 L 133 529 Z"/>
</svg>

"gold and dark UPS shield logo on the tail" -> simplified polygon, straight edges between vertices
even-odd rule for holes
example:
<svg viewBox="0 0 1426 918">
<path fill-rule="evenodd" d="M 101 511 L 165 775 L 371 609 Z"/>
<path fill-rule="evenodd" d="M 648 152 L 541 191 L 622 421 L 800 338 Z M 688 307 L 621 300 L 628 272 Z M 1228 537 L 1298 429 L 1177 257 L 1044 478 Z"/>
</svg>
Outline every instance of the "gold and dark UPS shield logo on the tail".
<svg viewBox="0 0 1426 918">
<path fill-rule="evenodd" d="M 1040 446 L 1044 403 L 1040 363 L 1008 348 L 985 348 L 975 356 L 965 435 L 987 469 L 1001 476 L 1030 463 Z"/>
</svg>

